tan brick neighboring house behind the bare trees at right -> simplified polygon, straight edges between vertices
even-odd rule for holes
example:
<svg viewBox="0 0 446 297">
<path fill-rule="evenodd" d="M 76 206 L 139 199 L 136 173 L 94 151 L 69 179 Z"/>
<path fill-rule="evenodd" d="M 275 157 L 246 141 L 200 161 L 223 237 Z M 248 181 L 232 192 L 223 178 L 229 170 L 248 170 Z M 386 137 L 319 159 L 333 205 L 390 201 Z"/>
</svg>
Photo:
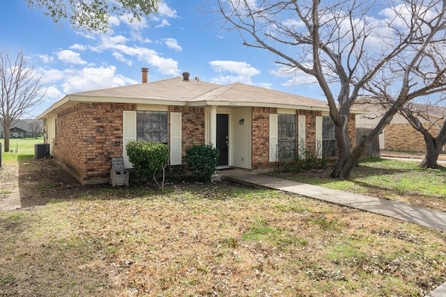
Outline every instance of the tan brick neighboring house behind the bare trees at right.
<svg viewBox="0 0 446 297">
<path fill-rule="evenodd" d="M 363 109 L 369 113 L 356 115 L 356 127 L 374 129 L 380 121 L 385 109 L 381 104 L 367 103 L 367 99 L 355 103 L 355 108 Z M 443 125 L 446 116 L 446 107 L 413 104 L 413 108 Z M 428 121 L 420 118 L 423 126 L 433 135 L 438 135 L 438 129 Z M 380 150 L 394 150 L 401 152 L 425 152 L 426 143 L 422 134 L 413 128 L 410 123 L 397 113 L 379 135 Z M 443 151 L 446 147 L 443 148 Z"/>
</svg>

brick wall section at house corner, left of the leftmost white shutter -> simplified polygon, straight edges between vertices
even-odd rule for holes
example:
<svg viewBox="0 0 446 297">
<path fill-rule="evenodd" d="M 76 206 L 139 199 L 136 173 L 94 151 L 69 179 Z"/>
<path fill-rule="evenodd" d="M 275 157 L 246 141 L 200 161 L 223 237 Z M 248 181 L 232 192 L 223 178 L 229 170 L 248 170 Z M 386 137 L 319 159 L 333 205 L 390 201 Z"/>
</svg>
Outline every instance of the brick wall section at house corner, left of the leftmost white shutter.
<svg viewBox="0 0 446 297">
<path fill-rule="evenodd" d="M 123 111 L 133 104 L 79 103 L 57 115 L 54 159 L 81 184 L 108 182 L 111 158 L 123 152 Z"/>
</svg>

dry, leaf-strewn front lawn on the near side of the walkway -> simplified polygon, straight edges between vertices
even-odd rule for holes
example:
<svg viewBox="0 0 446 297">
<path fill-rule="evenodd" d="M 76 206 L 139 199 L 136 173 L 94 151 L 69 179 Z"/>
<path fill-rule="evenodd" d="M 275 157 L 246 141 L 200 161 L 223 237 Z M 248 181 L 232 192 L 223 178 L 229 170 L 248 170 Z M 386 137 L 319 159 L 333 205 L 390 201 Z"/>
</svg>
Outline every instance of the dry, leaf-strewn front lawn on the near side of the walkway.
<svg viewBox="0 0 446 297">
<path fill-rule="evenodd" d="M 0 212 L 0 296 L 424 296 L 446 281 L 444 232 L 298 195 L 34 189 L 39 206 Z"/>
</svg>

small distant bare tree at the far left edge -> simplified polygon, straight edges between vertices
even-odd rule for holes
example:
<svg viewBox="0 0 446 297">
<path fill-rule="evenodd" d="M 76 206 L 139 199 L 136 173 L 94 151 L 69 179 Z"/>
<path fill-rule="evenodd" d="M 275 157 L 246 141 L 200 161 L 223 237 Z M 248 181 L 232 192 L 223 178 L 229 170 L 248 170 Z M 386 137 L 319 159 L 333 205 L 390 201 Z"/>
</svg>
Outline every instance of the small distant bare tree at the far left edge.
<svg viewBox="0 0 446 297">
<path fill-rule="evenodd" d="M 5 152 L 9 151 L 11 125 L 42 102 L 42 86 L 42 77 L 26 66 L 22 51 L 11 61 L 8 51 L 0 48 L 0 123 L 5 132 Z"/>
</svg>

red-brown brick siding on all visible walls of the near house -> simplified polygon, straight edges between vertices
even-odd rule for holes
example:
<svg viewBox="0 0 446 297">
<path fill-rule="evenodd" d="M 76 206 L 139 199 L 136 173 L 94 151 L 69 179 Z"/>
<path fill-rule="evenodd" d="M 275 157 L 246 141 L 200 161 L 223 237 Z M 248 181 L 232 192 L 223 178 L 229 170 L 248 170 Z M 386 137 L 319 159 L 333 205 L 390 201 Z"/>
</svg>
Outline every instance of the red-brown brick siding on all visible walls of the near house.
<svg viewBox="0 0 446 297">
<path fill-rule="evenodd" d="M 54 159 L 81 184 L 108 182 L 111 158 L 123 152 L 123 111 L 136 111 L 135 104 L 79 103 L 57 115 Z M 205 142 L 205 108 L 169 106 L 182 114 L 182 154 L 186 147 Z M 252 169 L 272 168 L 269 161 L 270 113 L 275 108 L 252 108 Z M 316 150 L 316 116 L 320 111 L 297 111 L 306 116 L 306 148 Z M 170 122 L 170 121 L 169 121 Z M 348 122 L 355 143 L 355 116 Z M 296 129 L 296 139 L 298 131 Z"/>
</svg>

